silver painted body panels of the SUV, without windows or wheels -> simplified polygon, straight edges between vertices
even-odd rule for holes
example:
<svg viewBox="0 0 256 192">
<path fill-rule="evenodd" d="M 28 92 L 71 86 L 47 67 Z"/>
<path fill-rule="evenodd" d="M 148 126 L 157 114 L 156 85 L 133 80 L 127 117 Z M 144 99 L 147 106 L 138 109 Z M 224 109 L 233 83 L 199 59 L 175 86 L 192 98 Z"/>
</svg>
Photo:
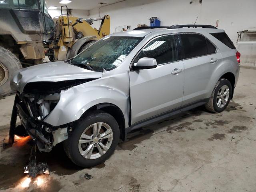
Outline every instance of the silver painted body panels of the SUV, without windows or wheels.
<svg viewBox="0 0 256 192">
<path fill-rule="evenodd" d="M 154 69 L 130 71 L 134 57 L 150 40 L 164 34 L 184 32 L 206 36 L 218 47 L 217 53 L 161 64 Z M 52 62 L 20 70 L 13 78 L 12 88 L 22 92 L 28 82 L 98 78 L 63 90 L 60 101 L 44 121 L 52 126 L 60 126 L 78 120 L 86 110 L 96 104 L 110 103 L 120 108 L 125 126 L 128 127 L 130 100 L 131 122 L 134 124 L 196 100 L 209 98 L 218 79 L 227 72 L 235 75 L 236 85 L 239 76 L 236 50 L 213 38 L 209 34 L 212 32 L 224 30 L 164 28 L 110 34 L 109 36 L 144 38 L 114 70 L 93 72 L 64 62 Z M 211 63 L 212 58 L 218 60 Z M 176 69 L 182 70 L 172 74 Z"/>
</svg>

